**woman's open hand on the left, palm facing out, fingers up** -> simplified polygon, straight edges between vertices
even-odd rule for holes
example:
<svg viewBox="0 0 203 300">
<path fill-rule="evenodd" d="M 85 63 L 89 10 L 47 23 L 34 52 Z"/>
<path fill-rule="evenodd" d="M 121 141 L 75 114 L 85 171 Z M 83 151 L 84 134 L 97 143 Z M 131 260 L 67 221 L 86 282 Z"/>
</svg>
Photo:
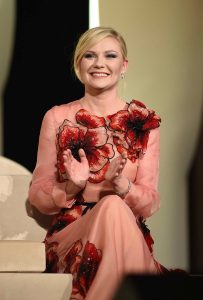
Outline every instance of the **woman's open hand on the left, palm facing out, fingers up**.
<svg viewBox="0 0 203 300">
<path fill-rule="evenodd" d="M 89 163 L 83 149 L 79 149 L 78 154 L 80 161 L 73 157 L 70 149 L 65 150 L 63 153 L 64 167 L 68 179 L 83 189 L 89 178 Z"/>
</svg>

